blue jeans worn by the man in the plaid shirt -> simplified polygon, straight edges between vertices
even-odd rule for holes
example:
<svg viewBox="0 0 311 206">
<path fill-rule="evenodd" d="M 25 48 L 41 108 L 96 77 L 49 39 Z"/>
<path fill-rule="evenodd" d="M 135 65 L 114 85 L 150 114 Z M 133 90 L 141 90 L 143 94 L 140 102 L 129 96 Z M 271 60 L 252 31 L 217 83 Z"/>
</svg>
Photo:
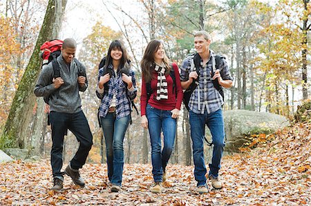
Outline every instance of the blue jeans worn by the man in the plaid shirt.
<svg viewBox="0 0 311 206">
<path fill-rule="evenodd" d="M 192 149 L 194 154 L 194 177 L 198 182 L 197 186 L 206 185 L 205 174 L 207 172 L 204 162 L 203 141 L 205 135 L 205 125 L 209 127 L 213 139 L 213 156 L 209 164 L 209 175 L 218 177 L 220 169 L 220 160 L 223 156 L 225 147 L 225 125 L 223 123 L 223 110 L 217 110 L 211 114 L 189 113 L 191 126 Z"/>
</svg>

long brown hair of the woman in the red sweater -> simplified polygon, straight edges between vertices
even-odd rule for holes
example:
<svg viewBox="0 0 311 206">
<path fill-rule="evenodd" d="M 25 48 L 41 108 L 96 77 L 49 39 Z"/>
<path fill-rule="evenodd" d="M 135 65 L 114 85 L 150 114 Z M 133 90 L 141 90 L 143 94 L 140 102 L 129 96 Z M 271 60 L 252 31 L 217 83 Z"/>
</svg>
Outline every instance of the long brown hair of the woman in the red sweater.
<svg viewBox="0 0 311 206">
<path fill-rule="evenodd" d="M 152 40 L 148 43 L 146 50 L 144 50 L 144 56 L 142 56 L 142 61 L 140 61 L 140 67 L 142 68 L 142 76 L 144 81 L 150 82 L 153 79 L 153 65 L 154 65 L 154 53 L 158 51 L 158 48 L 163 43 L 159 40 Z M 169 58 L 164 52 L 163 63 L 165 65 L 165 74 L 169 74 L 171 67 L 169 65 Z"/>
</svg>

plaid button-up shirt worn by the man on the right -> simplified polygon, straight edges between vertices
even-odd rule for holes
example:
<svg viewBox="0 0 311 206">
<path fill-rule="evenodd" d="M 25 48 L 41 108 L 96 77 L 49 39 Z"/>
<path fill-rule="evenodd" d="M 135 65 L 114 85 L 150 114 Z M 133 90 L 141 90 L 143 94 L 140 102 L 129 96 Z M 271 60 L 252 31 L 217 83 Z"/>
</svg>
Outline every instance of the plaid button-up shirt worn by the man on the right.
<svg viewBox="0 0 311 206">
<path fill-rule="evenodd" d="M 208 114 L 212 112 L 216 112 L 221 109 L 223 105 L 223 97 L 214 87 L 214 84 L 211 79 L 210 72 L 212 69 L 212 58 L 215 58 L 215 54 L 213 51 L 209 51 L 209 61 L 205 65 L 203 65 L 203 61 L 201 59 L 200 62 L 200 77 L 199 84 L 194 90 L 194 92 L 190 96 L 189 100 L 189 109 L 196 114 L 204 114 L 205 109 Z M 189 72 L 195 70 L 195 68 L 191 68 L 191 61 L 193 56 L 187 56 L 184 61 L 182 61 L 182 66 L 180 67 L 180 81 L 188 81 Z M 233 80 L 230 75 L 229 68 L 225 59 L 222 58 L 219 68 L 220 75 L 223 80 Z M 193 70 L 194 69 L 194 70 Z M 200 90 L 200 91 L 199 91 Z M 200 98 L 199 98 L 200 95 Z"/>
</svg>

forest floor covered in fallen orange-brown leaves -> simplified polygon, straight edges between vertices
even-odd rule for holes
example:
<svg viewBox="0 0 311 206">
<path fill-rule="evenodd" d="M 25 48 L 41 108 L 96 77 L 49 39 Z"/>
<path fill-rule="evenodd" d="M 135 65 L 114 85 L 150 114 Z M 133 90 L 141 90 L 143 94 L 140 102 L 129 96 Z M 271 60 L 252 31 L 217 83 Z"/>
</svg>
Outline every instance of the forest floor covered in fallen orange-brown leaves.
<svg viewBox="0 0 311 206">
<path fill-rule="evenodd" d="M 162 194 L 152 194 L 151 165 L 124 165 L 122 191 L 107 185 L 106 165 L 81 169 L 86 187 L 65 176 L 53 192 L 50 163 L 0 164 L 0 205 L 311 205 L 311 124 L 296 124 L 262 141 L 256 149 L 223 158 L 223 189 L 198 194 L 194 167 L 168 165 Z M 258 139 L 260 141 L 260 139 Z"/>
</svg>

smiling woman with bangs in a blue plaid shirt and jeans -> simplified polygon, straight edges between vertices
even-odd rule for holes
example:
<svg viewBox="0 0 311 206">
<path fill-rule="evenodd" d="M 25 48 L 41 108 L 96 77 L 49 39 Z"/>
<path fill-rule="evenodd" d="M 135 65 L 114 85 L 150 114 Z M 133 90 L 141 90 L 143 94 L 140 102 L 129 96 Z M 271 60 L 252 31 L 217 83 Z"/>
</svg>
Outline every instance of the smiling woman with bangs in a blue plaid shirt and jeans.
<svg viewBox="0 0 311 206">
<path fill-rule="evenodd" d="M 106 140 L 111 192 L 119 192 L 124 165 L 123 140 L 131 118 L 130 99 L 137 94 L 135 74 L 121 41 L 115 40 L 109 46 L 106 63 L 98 74 L 96 94 L 102 100 L 99 115 Z"/>
</svg>

